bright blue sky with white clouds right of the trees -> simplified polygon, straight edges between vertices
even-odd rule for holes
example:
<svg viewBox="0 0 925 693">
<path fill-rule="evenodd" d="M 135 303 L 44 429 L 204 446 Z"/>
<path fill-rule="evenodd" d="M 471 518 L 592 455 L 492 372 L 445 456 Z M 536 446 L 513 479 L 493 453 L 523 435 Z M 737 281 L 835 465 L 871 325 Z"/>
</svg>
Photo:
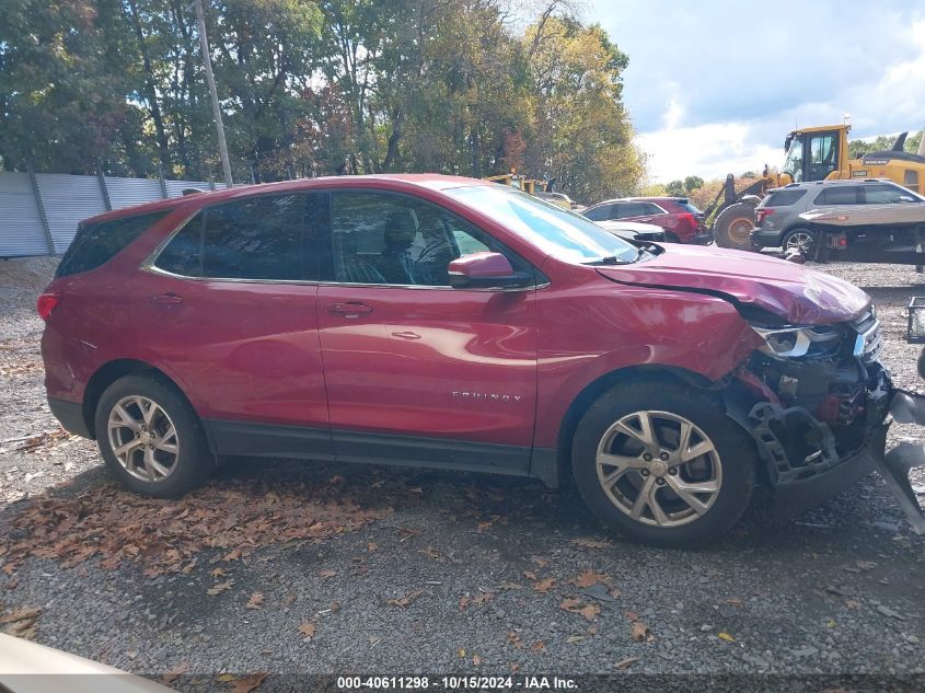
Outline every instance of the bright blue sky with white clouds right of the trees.
<svg viewBox="0 0 925 693">
<path fill-rule="evenodd" d="M 795 123 L 849 114 L 852 139 L 925 127 L 922 0 L 588 0 L 585 15 L 629 56 L 655 182 L 779 166 Z"/>
</svg>

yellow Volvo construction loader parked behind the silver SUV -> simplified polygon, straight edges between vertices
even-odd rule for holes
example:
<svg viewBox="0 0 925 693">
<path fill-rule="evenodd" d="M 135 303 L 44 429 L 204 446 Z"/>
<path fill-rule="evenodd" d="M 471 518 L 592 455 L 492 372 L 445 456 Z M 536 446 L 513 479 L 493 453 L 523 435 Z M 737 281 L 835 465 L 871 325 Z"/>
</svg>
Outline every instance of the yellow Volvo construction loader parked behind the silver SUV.
<svg viewBox="0 0 925 693">
<path fill-rule="evenodd" d="M 781 173 L 765 169 L 762 178 L 739 193 L 730 174 L 726 185 L 704 215 L 713 219 L 716 244 L 752 250 L 749 234 L 754 227 L 754 208 L 765 193 L 789 183 L 845 178 L 889 178 L 918 194 L 925 194 L 925 137 L 918 153 L 904 151 L 907 132 L 897 138 L 888 151 L 848 159 L 851 125 L 800 128 L 784 140 L 786 155 Z M 720 198 L 721 201 L 720 201 Z"/>
</svg>

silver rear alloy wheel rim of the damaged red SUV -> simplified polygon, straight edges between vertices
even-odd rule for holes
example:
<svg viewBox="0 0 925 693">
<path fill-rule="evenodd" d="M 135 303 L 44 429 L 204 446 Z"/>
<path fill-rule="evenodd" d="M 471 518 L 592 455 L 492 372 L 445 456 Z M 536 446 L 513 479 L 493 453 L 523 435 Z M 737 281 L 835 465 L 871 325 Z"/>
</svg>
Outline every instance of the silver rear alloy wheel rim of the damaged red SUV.
<svg viewBox="0 0 925 693">
<path fill-rule="evenodd" d="M 116 461 L 138 480 L 161 482 L 176 470 L 176 427 L 153 400 L 132 395 L 116 402 L 109 411 L 108 438 Z"/>
</svg>

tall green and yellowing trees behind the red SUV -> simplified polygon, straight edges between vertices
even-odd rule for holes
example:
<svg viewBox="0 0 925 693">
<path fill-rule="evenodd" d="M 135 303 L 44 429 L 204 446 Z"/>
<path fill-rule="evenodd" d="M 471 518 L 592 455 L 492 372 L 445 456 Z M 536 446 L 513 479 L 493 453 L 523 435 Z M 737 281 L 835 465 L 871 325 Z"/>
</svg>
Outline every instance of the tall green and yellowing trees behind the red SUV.
<svg viewBox="0 0 925 693">
<path fill-rule="evenodd" d="M 238 181 L 517 166 L 586 201 L 638 187 L 627 57 L 548 0 L 205 0 Z M 5 0 L 7 170 L 219 170 L 188 0 Z"/>
</svg>

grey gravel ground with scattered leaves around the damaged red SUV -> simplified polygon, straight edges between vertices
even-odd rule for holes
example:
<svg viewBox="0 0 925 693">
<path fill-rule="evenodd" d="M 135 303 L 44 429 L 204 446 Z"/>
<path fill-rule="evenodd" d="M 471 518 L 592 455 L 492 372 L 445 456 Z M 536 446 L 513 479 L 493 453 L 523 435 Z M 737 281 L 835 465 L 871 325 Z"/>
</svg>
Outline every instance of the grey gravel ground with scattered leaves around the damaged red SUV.
<svg viewBox="0 0 925 693">
<path fill-rule="evenodd" d="M 56 432 L 44 400 L 33 307 L 54 265 L 0 262 L 0 531 L 20 539 L 30 504 L 107 484 L 94 444 Z M 925 277 L 822 268 L 874 296 L 884 360 L 916 388 L 904 307 Z M 914 427 L 890 437 L 925 440 Z M 344 487 L 388 511 L 314 541 L 245 541 L 240 557 L 206 547 L 167 575 L 146 576 L 143 554 L 115 567 L 28 558 L 0 575 L 0 613 L 41 608 L 39 643 L 151 678 L 183 671 L 172 685 L 184 690 L 232 690 L 254 672 L 867 673 L 907 674 L 912 688 L 925 677 L 925 538 L 876 475 L 794 521 L 760 494 L 698 552 L 622 542 L 570 493 L 521 480 L 236 461 L 213 486 L 238 484 L 247 504 L 297 482 L 307 504 Z M 184 517 L 203 500 L 162 503 Z M 285 688 L 259 690 L 274 681 Z"/>
</svg>

